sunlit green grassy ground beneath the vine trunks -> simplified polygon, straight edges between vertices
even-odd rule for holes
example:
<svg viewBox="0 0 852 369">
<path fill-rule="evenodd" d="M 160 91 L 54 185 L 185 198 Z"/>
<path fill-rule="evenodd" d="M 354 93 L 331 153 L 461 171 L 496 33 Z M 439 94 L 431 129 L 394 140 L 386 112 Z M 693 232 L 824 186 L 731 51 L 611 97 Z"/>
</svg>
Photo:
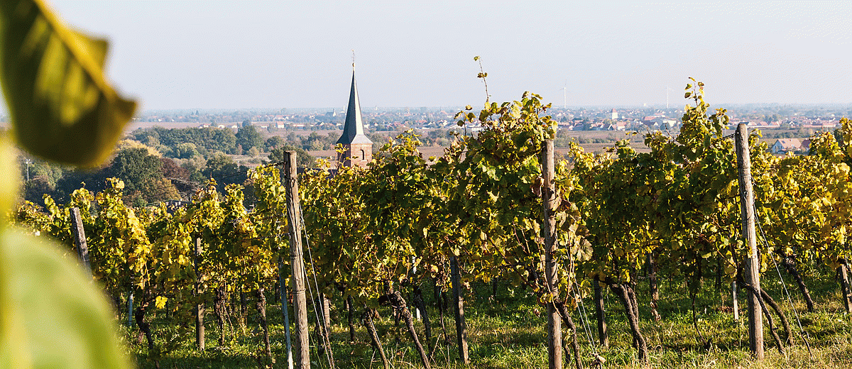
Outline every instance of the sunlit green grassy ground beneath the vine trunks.
<svg viewBox="0 0 852 369">
<path fill-rule="evenodd" d="M 747 323 L 734 321 L 730 313 L 728 291 L 723 294 L 715 289 L 711 282 L 705 284 L 705 291 L 696 301 L 698 326 L 701 334 L 711 340 L 705 345 L 693 326 L 690 310 L 691 300 L 682 283 L 672 282 L 661 285 L 660 314 L 663 319 L 654 322 L 648 310 L 647 285 L 641 281 L 637 288 L 640 304 L 641 326 L 650 348 L 650 363 L 643 366 L 636 360 L 636 349 L 630 345 L 629 329 L 625 323 L 623 309 L 615 297 L 607 294 L 607 319 L 610 332 L 610 346 L 606 349 L 593 346 L 589 337 L 596 337 L 596 323 L 593 320 L 594 308 L 590 299 L 584 301 L 587 315 L 573 313 L 578 326 L 579 346 L 584 366 L 589 367 L 592 352 L 598 352 L 607 362 L 604 367 L 613 368 L 848 368 L 852 367 L 852 320 L 844 313 L 839 303 L 838 284 L 832 275 L 821 278 L 812 277 L 809 282 L 812 295 L 817 304 L 815 313 L 807 313 L 803 300 L 797 290 L 791 290 L 793 307 L 798 312 L 804 331 L 809 337 L 810 350 L 799 335 L 797 317 L 782 292 L 777 275 L 766 274 L 763 287 L 786 310 L 793 331 L 793 346 L 786 347 L 786 354 L 780 355 L 767 330 L 766 359 L 754 360 L 748 351 Z M 784 278 L 787 278 L 784 275 Z M 794 285 L 788 280 L 788 288 Z M 435 310 L 429 314 L 433 321 L 433 342 L 439 344 L 433 367 L 439 368 L 539 368 L 547 366 L 547 348 L 545 346 L 545 322 L 541 312 L 544 310 L 535 303 L 535 299 L 521 290 L 512 290 L 509 285 L 499 285 L 496 299 L 488 297 L 491 286 L 475 285 L 474 293 L 469 294 L 466 309 L 469 330 L 469 355 L 471 363 L 467 366 L 458 363 L 455 349 L 455 326 L 452 315 L 445 319 L 445 337 Z M 424 291 L 430 300 L 431 293 Z M 740 292 L 740 307 L 745 314 L 745 296 Z M 268 301 L 273 302 L 272 298 Z M 428 301 L 429 303 L 429 301 Z M 252 304 L 253 305 L 253 304 Z M 310 308 L 309 308 L 310 309 Z M 396 368 L 421 367 L 419 356 L 403 324 L 397 328 L 389 318 L 389 309 L 381 308 L 382 319 L 376 321 L 379 336 L 383 340 L 386 354 Z M 313 312 L 309 310 L 310 317 Z M 287 367 L 284 326 L 282 315 L 277 306 L 268 307 L 271 323 L 271 340 L 274 367 Z M 233 340 L 223 347 L 216 347 L 218 332 L 212 314 L 207 317 L 207 350 L 199 353 L 194 349 L 194 331 L 187 326 L 169 323 L 171 320 L 157 318 L 154 329 L 158 347 L 164 348 L 159 355 L 148 355 L 144 345 L 137 343 L 137 332 L 127 332 L 130 349 L 141 367 L 161 368 L 256 368 L 262 367 L 264 360 L 258 361 L 262 354 L 262 337 L 254 316 L 249 317 L 249 326 L 245 335 L 239 332 Z M 778 324 L 778 319 L 775 319 Z M 381 368 L 382 362 L 373 350 L 363 326 L 356 323 L 357 341 L 348 342 L 348 326 L 341 306 L 332 308 L 332 351 L 337 366 L 341 368 Z M 585 324 L 584 324 L 585 323 Z M 764 323 L 765 326 L 765 323 Z M 585 332 L 585 328 L 590 332 Z M 423 341 L 423 326 L 417 323 L 419 335 Z M 312 330 L 313 331 L 313 330 Z M 567 330 L 563 335 L 567 336 Z M 783 332 L 779 332 L 783 337 Z M 445 338 L 448 338 L 445 341 Z M 314 337 L 311 337 L 314 343 Z M 325 357 L 316 356 L 312 348 L 314 367 L 325 367 Z M 573 357 L 564 356 L 566 367 L 573 367 Z"/>
</svg>

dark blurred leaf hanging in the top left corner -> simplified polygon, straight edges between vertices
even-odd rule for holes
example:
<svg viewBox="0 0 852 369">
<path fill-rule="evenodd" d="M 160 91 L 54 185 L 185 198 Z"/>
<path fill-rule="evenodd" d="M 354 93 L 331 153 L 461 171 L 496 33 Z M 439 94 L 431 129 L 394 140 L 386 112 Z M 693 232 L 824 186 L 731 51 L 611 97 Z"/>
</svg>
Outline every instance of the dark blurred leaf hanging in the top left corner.
<svg viewBox="0 0 852 369">
<path fill-rule="evenodd" d="M 42 0 L 0 2 L 0 82 L 14 139 L 66 164 L 100 163 L 135 111 L 107 84 L 107 42 L 69 30 Z"/>
</svg>

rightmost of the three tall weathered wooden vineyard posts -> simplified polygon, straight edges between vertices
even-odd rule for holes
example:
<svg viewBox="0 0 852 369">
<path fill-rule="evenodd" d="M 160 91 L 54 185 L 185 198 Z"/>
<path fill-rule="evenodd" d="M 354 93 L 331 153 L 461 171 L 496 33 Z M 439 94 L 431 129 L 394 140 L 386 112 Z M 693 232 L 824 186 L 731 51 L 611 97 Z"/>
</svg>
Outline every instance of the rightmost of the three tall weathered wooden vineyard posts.
<svg viewBox="0 0 852 369">
<path fill-rule="evenodd" d="M 751 353 L 758 360 L 763 359 L 763 312 L 760 307 L 760 260 L 757 257 L 757 234 L 754 230 L 754 192 L 751 189 L 751 154 L 748 148 L 748 126 L 737 125 L 734 135 L 737 150 L 737 169 L 740 173 L 740 210 L 743 229 L 748 245 L 748 257 L 744 265 L 746 283 L 754 288 L 748 293 L 748 329 Z"/>
</svg>

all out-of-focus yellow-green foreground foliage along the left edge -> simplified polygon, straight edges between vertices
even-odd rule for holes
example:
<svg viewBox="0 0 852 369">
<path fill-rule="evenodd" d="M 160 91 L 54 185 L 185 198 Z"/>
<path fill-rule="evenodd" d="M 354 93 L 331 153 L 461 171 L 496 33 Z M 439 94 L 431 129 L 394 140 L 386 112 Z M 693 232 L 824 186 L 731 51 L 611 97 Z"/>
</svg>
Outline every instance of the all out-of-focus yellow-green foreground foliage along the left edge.
<svg viewBox="0 0 852 369">
<path fill-rule="evenodd" d="M 0 82 L 20 147 L 43 159 L 106 159 L 135 110 L 102 74 L 107 43 L 67 29 L 40 0 L 0 4 Z M 10 225 L 18 167 L 0 136 L 0 366 L 123 368 L 112 313 L 55 241 Z M 73 344 L 69 344 L 73 343 Z"/>
</svg>

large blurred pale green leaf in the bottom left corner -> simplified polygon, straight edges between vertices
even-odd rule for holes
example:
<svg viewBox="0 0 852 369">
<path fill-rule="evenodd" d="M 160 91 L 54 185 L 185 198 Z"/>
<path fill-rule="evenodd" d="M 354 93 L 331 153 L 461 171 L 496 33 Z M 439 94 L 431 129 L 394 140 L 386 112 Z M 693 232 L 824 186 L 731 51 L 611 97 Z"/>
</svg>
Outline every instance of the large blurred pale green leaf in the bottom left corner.
<svg viewBox="0 0 852 369">
<path fill-rule="evenodd" d="M 60 246 L 0 229 L 0 367 L 129 368 L 113 316 Z"/>
</svg>

